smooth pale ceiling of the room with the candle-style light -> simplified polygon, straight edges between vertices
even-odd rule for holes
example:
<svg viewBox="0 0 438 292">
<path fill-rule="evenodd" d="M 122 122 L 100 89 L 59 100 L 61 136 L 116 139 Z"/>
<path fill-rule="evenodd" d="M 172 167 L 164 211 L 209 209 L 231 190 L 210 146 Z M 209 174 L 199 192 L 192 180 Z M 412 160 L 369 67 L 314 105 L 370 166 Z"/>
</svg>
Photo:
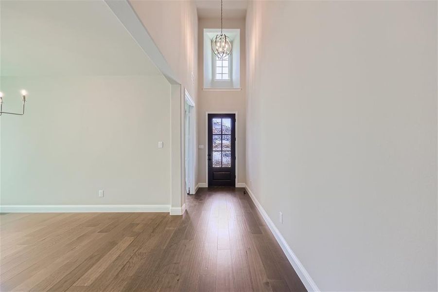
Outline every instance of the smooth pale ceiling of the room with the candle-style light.
<svg viewBox="0 0 438 292">
<path fill-rule="evenodd" d="M 0 5 L 1 76 L 160 74 L 103 0 Z"/>
</svg>

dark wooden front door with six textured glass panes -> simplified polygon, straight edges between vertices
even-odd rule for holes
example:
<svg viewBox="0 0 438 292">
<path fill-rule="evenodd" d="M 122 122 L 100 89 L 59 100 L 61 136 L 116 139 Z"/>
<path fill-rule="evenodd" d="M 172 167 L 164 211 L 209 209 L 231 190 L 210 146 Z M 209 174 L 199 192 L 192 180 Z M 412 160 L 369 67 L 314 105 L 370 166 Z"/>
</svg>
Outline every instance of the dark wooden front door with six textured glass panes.
<svg viewBox="0 0 438 292">
<path fill-rule="evenodd" d="M 236 115 L 209 113 L 209 186 L 236 184 Z"/>
</svg>

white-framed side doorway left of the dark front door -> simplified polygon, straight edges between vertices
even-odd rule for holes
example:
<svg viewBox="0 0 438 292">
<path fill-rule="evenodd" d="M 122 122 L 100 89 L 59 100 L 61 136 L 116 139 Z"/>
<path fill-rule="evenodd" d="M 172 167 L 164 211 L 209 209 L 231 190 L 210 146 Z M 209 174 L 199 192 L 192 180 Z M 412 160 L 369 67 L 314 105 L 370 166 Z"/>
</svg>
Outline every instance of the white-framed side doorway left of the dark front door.
<svg viewBox="0 0 438 292">
<path fill-rule="evenodd" d="M 185 104 L 189 105 L 189 118 L 190 118 L 190 139 L 189 141 L 186 142 L 186 138 L 187 138 L 187 133 L 186 133 L 186 114 L 185 114 Z M 190 188 L 190 194 L 194 194 L 195 192 L 195 188 L 196 186 L 194 185 L 194 173 L 195 173 L 195 157 L 196 157 L 196 119 L 195 119 L 195 104 L 193 101 L 192 96 L 190 96 L 189 92 L 187 91 L 187 89 L 184 89 L 184 147 L 186 145 L 189 146 L 188 150 L 185 150 L 184 152 L 188 152 L 188 159 L 189 159 L 189 163 L 188 165 L 184 165 L 184 172 L 186 171 L 186 169 L 188 170 L 188 173 L 184 174 L 184 184 L 186 184 L 186 179 L 189 182 L 189 188 Z M 184 153 L 184 157 L 183 157 L 183 161 L 185 164 L 185 158 L 186 158 L 186 153 Z M 185 190 L 187 190 L 187 185 L 185 185 Z"/>
</svg>

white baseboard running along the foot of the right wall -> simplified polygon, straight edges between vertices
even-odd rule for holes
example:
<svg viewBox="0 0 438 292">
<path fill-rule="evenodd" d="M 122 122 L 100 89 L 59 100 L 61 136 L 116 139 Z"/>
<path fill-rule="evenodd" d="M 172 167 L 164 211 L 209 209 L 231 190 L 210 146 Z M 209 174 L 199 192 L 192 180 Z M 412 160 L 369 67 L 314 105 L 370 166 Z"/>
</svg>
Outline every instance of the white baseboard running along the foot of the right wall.
<svg viewBox="0 0 438 292">
<path fill-rule="evenodd" d="M 260 214 L 262 214 L 262 217 L 266 222 L 266 224 L 268 225 L 269 229 L 271 230 L 272 234 L 274 234 L 275 239 L 277 239 L 278 243 L 280 244 L 281 249 L 283 250 L 284 254 L 287 256 L 287 259 L 294 267 L 295 272 L 297 272 L 299 278 L 301 279 L 301 282 L 303 282 L 307 291 L 320 291 L 316 286 L 312 277 L 309 275 L 309 273 L 307 273 L 306 269 L 301 264 L 298 257 L 292 251 L 291 247 L 287 244 L 286 240 L 281 235 L 280 231 L 277 229 L 274 222 L 269 218 L 268 214 L 263 209 L 260 202 L 257 200 L 257 198 L 254 196 L 254 194 L 251 192 L 251 190 L 247 185 L 245 185 L 245 188 L 249 194 L 249 197 L 252 199 L 257 209 L 259 210 Z"/>
</svg>

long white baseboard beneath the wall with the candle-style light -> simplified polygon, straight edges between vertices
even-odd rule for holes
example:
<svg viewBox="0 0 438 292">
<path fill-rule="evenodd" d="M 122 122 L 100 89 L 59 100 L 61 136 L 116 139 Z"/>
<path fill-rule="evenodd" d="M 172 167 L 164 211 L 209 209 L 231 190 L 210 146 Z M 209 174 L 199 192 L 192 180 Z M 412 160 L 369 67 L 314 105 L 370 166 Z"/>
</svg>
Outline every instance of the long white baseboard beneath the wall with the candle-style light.
<svg viewBox="0 0 438 292">
<path fill-rule="evenodd" d="M 1 213 L 170 212 L 170 205 L 2 205 Z"/>
</svg>

